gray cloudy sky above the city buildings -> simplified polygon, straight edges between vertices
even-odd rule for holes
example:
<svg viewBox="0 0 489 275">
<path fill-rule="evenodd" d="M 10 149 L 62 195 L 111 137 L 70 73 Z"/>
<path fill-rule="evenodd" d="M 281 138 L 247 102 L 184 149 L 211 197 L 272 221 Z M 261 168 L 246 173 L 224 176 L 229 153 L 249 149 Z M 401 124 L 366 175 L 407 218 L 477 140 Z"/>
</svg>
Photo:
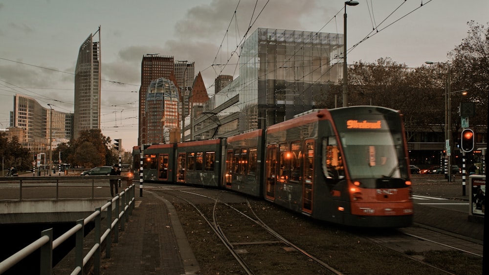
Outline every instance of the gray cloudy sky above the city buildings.
<svg viewBox="0 0 489 275">
<path fill-rule="evenodd" d="M 488 0 L 358 0 L 348 6 L 348 63 L 390 57 L 408 67 L 445 62 L 470 20 L 489 22 Z M 78 49 L 101 26 L 102 132 L 137 143 L 144 54 L 194 61 L 209 94 L 229 53 L 258 27 L 343 33 L 344 0 L 0 0 L 0 128 L 13 97 L 73 112 Z M 251 26 L 250 26 L 251 25 Z M 98 40 L 98 34 L 96 37 Z M 236 56 L 236 55 L 234 55 Z"/>
</svg>

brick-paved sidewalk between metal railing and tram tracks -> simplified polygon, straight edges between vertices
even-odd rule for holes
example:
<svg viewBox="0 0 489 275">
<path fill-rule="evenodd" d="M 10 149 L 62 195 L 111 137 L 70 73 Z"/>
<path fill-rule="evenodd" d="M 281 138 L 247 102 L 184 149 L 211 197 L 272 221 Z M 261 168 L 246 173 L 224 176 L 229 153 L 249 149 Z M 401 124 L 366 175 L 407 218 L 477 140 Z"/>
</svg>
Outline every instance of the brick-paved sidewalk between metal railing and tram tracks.
<svg viewBox="0 0 489 275">
<path fill-rule="evenodd" d="M 137 193 L 137 192 L 136 192 Z M 187 242 L 175 208 L 170 202 L 144 190 L 136 194 L 135 210 L 119 243 L 100 274 L 194 274 L 199 264 Z"/>
</svg>

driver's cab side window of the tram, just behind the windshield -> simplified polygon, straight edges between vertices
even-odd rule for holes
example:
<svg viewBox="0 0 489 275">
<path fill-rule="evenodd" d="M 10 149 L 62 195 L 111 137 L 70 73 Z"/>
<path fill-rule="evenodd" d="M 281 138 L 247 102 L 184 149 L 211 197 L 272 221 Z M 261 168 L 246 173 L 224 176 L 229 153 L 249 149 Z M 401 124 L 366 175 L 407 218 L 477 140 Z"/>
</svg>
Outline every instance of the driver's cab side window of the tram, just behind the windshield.
<svg viewBox="0 0 489 275">
<path fill-rule="evenodd" d="M 336 137 L 323 140 L 323 172 L 329 180 L 339 180 L 345 177 L 343 157 L 338 148 Z"/>
</svg>

